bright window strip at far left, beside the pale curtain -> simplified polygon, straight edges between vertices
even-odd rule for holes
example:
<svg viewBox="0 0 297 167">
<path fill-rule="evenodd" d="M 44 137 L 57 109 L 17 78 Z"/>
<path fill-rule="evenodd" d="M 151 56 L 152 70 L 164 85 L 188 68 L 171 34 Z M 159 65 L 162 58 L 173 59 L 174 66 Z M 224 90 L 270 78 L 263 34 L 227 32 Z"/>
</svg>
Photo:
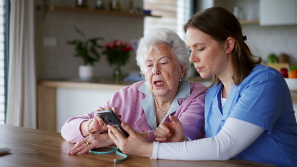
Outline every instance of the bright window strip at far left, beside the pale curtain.
<svg viewBox="0 0 297 167">
<path fill-rule="evenodd" d="M 9 0 L 0 0 L 0 124 L 5 123 Z M 6 5 L 8 4 L 8 5 Z"/>
</svg>

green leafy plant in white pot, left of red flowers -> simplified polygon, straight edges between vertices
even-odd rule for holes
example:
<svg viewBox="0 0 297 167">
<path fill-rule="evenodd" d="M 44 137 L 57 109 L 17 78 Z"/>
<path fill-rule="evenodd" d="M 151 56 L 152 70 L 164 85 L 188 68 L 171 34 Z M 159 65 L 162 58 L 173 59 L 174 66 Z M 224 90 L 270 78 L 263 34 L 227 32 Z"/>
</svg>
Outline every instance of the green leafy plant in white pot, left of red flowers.
<svg viewBox="0 0 297 167">
<path fill-rule="evenodd" d="M 79 78 L 88 80 L 93 77 L 94 62 L 99 62 L 100 60 L 100 54 L 97 51 L 97 48 L 103 48 L 97 41 L 104 39 L 102 37 L 97 37 L 86 40 L 85 34 L 82 31 L 77 27 L 74 29 L 83 37 L 83 41 L 73 40 L 68 41 L 67 43 L 75 45 L 76 53 L 74 56 L 81 57 L 84 61 L 84 65 L 79 66 Z"/>
</svg>

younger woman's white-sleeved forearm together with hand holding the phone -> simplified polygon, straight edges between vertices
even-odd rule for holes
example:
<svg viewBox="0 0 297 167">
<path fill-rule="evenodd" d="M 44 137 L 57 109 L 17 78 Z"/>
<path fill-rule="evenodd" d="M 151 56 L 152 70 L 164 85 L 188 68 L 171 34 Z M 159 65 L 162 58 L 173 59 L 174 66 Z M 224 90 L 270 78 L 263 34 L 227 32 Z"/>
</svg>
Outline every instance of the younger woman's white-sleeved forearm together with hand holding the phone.
<svg viewBox="0 0 297 167">
<path fill-rule="evenodd" d="M 129 137 L 124 138 L 112 126 L 107 125 L 107 128 L 109 137 L 123 153 L 151 159 L 189 161 L 229 160 L 246 149 L 264 132 L 264 129 L 257 125 L 228 118 L 216 136 L 175 143 L 154 142 L 152 145 L 129 125 L 122 123 L 122 126 L 130 134 Z"/>
</svg>

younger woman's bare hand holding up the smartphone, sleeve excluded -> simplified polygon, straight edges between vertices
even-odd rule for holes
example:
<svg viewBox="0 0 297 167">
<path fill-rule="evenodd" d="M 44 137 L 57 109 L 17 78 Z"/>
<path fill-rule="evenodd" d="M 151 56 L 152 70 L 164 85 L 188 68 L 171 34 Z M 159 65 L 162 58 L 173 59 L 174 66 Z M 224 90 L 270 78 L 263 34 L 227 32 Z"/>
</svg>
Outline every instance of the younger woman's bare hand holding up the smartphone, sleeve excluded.
<svg viewBox="0 0 297 167">
<path fill-rule="evenodd" d="M 133 130 L 128 124 L 123 122 L 121 125 L 123 129 L 129 133 L 129 137 L 124 137 L 121 132 L 112 125 L 107 125 L 108 135 L 117 147 L 125 154 L 150 158 L 153 144 L 149 143 L 143 134 Z"/>
</svg>

